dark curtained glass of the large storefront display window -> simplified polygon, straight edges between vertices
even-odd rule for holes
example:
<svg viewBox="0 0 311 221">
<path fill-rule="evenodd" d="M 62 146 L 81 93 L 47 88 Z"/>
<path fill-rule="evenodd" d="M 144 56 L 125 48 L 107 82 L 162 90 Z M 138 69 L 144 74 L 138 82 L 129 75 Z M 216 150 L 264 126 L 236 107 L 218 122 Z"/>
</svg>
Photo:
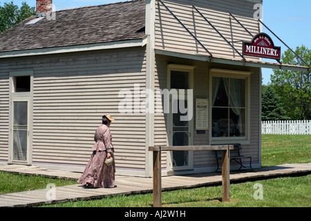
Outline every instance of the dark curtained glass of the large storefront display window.
<svg viewBox="0 0 311 221">
<path fill-rule="evenodd" d="M 212 137 L 245 137 L 245 79 L 212 77 Z"/>
</svg>

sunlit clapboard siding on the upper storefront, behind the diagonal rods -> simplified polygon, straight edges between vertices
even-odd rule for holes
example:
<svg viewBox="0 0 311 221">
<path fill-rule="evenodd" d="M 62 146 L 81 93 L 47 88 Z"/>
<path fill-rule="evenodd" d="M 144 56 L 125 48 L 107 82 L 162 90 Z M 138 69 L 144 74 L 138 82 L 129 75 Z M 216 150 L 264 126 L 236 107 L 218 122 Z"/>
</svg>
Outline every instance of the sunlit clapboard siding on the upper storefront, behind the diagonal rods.
<svg viewBox="0 0 311 221">
<path fill-rule="evenodd" d="M 240 58 L 238 53 L 192 8 L 193 5 L 228 41 L 234 42 L 233 45 L 239 52 L 242 50 L 242 41 L 250 41 L 252 37 L 229 16 L 229 12 L 253 35 L 259 32 L 258 21 L 253 19 L 254 3 L 250 1 L 164 0 L 163 2 L 215 57 Z M 155 28 L 156 49 L 209 55 L 160 2 L 156 3 Z"/>
</svg>

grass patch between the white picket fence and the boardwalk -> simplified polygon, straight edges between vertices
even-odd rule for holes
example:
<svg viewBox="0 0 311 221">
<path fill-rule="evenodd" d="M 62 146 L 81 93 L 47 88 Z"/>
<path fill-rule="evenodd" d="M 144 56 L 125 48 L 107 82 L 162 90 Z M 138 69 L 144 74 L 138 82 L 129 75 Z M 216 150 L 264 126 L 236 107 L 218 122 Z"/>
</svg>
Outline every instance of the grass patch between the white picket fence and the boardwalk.
<svg viewBox="0 0 311 221">
<path fill-rule="evenodd" d="M 311 162 L 311 135 L 263 135 L 261 166 Z"/>
</svg>

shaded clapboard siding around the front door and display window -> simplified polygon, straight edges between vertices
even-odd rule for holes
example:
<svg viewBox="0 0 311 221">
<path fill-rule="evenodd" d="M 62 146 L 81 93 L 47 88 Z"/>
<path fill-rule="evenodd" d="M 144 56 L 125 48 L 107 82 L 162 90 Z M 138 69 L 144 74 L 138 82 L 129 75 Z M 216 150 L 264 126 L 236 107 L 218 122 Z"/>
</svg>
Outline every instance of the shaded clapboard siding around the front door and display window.
<svg viewBox="0 0 311 221">
<path fill-rule="evenodd" d="M 155 88 L 167 88 L 167 64 L 183 64 L 189 66 L 196 66 L 194 69 L 194 99 L 207 98 L 209 99 L 209 69 L 222 68 L 227 70 L 243 70 L 241 67 L 230 66 L 225 64 L 214 64 L 204 61 L 194 61 L 190 59 L 182 59 L 178 57 L 169 57 L 165 55 L 156 55 L 156 78 Z M 249 144 L 242 144 L 241 154 L 252 155 L 252 162 L 258 164 L 260 140 L 260 85 L 261 77 L 258 68 L 247 68 L 247 71 L 253 72 L 250 77 L 250 140 Z M 194 109 L 194 119 L 196 117 Z M 210 114 L 210 113 L 209 113 Z M 155 145 L 167 145 L 167 131 L 166 131 L 166 117 L 162 113 L 156 113 L 155 117 Z M 209 131 L 205 134 L 198 134 L 195 130 L 194 123 L 194 145 L 209 145 Z M 210 126 L 210 125 L 209 125 Z M 163 152 L 165 153 L 165 152 Z M 166 167 L 166 155 L 162 155 L 162 168 Z M 194 169 L 200 168 L 214 168 L 216 166 L 214 151 L 194 151 Z"/>
</svg>

